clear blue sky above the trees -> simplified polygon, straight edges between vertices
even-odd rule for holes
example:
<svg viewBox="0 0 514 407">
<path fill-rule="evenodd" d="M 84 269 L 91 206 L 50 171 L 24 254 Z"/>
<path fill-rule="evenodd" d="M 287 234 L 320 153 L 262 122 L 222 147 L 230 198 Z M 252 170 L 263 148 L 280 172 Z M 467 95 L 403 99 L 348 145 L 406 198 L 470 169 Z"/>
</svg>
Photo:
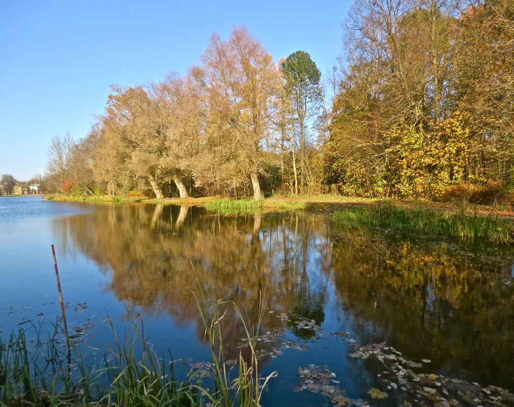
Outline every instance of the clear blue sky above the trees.
<svg viewBox="0 0 514 407">
<path fill-rule="evenodd" d="M 303 50 L 324 74 L 351 3 L 0 0 L 0 174 L 44 173 L 52 137 L 84 137 L 109 85 L 186 73 L 213 31 L 246 24 L 276 61 Z"/>
</svg>

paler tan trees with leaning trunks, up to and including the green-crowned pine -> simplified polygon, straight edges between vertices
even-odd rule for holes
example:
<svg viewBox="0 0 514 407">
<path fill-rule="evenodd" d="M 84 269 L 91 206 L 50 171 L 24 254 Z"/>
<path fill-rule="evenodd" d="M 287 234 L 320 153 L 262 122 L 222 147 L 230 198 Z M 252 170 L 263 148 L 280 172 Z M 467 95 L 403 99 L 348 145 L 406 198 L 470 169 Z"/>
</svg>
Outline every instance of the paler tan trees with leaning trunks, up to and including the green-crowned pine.
<svg viewBox="0 0 514 407">
<path fill-rule="evenodd" d="M 310 56 L 292 54 L 283 75 L 243 27 L 227 41 L 213 34 L 200 61 L 184 77 L 113 86 L 87 137 L 53 139 L 54 189 L 114 195 L 150 187 L 160 199 L 187 198 L 194 187 L 260 199 L 263 187 L 284 186 L 286 173 L 291 190 L 305 188 L 312 110 L 321 98 Z"/>
</svg>

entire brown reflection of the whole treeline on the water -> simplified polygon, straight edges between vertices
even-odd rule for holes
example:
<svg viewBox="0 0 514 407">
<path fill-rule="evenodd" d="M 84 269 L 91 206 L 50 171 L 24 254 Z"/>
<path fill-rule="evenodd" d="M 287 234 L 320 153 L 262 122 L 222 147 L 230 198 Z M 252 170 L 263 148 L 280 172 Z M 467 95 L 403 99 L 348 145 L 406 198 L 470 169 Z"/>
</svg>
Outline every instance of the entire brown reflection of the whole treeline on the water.
<svg viewBox="0 0 514 407">
<path fill-rule="evenodd" d="M 100 207 L 54 226 L 70 250 L 112 274 L 108 289 L 120 301 L 194 321 L 199 340 L 199 287 L 250 318 L 265 288 L 268 330 L 289 323 L 297 337 L 314 338 L 294 318 L 277 318 L 299 315 L 359 343 L 387 341 L 408 358 L 430 359 L 427 371 L 514 389 L 511 249 L 337 228 L 323 217 L 221 216 L 186 206 Z M 232 355 L 244 337 L 234 321 L 228 314 Z"/>
</svg>

